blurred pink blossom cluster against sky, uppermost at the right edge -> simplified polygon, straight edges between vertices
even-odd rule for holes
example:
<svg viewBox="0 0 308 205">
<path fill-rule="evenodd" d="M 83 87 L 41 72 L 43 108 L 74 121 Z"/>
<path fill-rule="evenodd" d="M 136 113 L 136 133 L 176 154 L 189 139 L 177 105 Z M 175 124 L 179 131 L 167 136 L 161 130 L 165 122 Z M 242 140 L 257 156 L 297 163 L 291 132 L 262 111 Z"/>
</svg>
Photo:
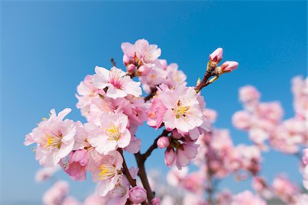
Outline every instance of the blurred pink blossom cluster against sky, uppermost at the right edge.
<svg viewBox="0 0 308 205">
<path fill-rule="evenodd" d="M 260 102 L 259 91 L 247 85 L 240 88 L 240 101 L 244 110 L 233 115 L 233 125 L 247 131 L 250 139 L 263 150 L 266 140 L 273 148 L 285 153 L 297 153 L 308 146 L 307 91 L 308 79 L 295 77 L 292 80 L 294 94 L 293 118 L 282 120 L 283 109 L 279 102 Z"/>
</svg>

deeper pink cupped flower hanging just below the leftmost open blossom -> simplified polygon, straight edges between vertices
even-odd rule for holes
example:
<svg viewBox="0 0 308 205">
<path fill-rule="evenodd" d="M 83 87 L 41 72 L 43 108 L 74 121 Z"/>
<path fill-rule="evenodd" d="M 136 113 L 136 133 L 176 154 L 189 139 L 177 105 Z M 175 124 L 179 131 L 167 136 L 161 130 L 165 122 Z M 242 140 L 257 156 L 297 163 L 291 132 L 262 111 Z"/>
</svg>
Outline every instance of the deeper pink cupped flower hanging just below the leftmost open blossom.
<svg viewBox="0 0 308 205">
<path fill-rule="evenodd" d="M 86 180 L 86 170 L 88 166 L 88 153 L 86 150 L 76 150 L 70 152 L 68 157 L 61 159 L 60 164 L 70 178 L 73 180 Z"/>
</svg>

